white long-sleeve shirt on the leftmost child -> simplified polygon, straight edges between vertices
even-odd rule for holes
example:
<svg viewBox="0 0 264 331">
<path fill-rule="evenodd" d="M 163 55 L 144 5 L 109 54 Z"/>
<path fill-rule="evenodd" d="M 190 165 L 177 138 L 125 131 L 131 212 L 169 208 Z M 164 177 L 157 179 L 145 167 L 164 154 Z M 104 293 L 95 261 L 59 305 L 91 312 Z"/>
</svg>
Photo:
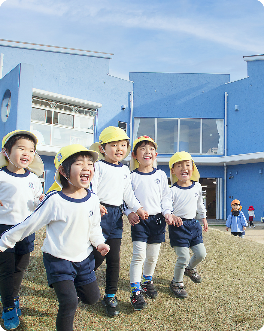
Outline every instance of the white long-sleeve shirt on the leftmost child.
<svg viewBox="0 0 264 331">
<path fill-rule="evenodd" d="M 37 175 L 25 169 L 17 174 L 0 168 L 0 224 L 16 225 L 34 212 L 43 188 Z"/>
</svg>

